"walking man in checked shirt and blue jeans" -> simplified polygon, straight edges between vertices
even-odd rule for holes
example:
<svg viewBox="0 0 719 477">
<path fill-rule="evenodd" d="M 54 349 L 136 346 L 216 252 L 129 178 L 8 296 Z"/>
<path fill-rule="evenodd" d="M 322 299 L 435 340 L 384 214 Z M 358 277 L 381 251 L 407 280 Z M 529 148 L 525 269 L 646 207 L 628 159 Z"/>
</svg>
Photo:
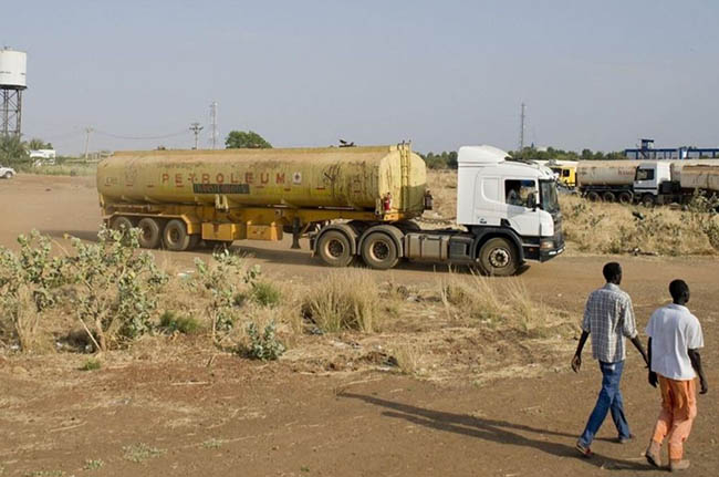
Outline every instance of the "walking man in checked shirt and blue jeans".
<svg viewBox="0 0 719 477">
<path fill-rule="evenodd" d="M 606 263 L 603 273 L 606 284 L 593 291 L 586 301 L 582 320 L 582 336 L 572 359 L 572 370 L 576 373 L 582 366 L 582 349 L 591 334 L 592 356 L 600 362 L 602 371 L 602 390 L 586 427 L 576 442 L 576 449 L 584 457 L 592 456 L 590 446 L 609 412 L 618 433 L 617 442 L 625 444 L 634 438 L 624 415 L 624 403 L 619 391 L 619 381 L 626 359 L 626 338 L 632 340 L 645 363 L 647 362 L 647 355 L 636 329 L 632 299 L 619 288 L 622 267 L 617 262 Z"/>
</svg>

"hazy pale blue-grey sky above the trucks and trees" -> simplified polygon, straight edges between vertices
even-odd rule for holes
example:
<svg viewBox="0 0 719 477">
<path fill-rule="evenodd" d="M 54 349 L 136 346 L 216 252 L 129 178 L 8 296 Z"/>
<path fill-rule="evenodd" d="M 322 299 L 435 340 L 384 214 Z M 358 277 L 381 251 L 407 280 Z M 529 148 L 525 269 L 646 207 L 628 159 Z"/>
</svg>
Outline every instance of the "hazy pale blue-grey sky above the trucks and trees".
<svg viewBox="0 0 719 477">
<path fill-rule="evenodd" d="M 411 139 L 420 152 L 528 143 L 719 147 L 719 2 L 8 1 L 28 52 L 23 133 L 61 153 L 223 142 Z M 108 136 L 161 136 L 119 139 Z"/>
</svg>

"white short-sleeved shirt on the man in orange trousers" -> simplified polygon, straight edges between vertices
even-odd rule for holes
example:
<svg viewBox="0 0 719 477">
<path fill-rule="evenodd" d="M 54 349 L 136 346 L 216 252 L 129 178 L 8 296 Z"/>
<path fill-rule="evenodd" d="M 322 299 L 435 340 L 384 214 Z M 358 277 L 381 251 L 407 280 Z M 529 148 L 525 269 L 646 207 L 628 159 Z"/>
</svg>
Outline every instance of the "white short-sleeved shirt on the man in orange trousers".
<svg viewBox="0 0 719 477">
<path fill-rule="evenodd" d="M 646 333 L 652 338 L 652 371 L 664 377 L 688 381 L 696 377 L 687 350 L 704 348 L 701 324 L 687 307 L 670 303 L 649 318 Z"/>
</svg>

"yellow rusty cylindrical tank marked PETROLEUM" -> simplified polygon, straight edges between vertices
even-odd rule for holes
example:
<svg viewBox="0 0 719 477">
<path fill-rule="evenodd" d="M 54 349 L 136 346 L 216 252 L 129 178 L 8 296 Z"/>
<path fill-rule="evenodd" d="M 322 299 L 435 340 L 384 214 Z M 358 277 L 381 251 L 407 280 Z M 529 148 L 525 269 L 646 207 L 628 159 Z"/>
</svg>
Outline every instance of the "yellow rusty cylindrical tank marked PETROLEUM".
<svg viewBox="0 0 719 477">
<path fill-rule="evenodd" d="M 409 145 L 283 149 L 118 152 L 97 166 L 112 204 L 216 204 L 420 215 L 425 162 Z"/>
</svg>

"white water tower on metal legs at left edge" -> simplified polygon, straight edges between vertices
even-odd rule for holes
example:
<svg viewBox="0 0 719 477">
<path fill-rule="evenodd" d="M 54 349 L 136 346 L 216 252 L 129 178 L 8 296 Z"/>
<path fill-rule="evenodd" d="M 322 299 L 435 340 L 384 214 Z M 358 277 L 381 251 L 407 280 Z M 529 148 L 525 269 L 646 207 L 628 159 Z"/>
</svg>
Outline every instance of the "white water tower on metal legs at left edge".
<svg viewBox="0 0 719 477">
<path fill-rule="evenodd" d="M 9 48 L 0 50 L 0 136 L 20 136 L 27 70 L 28 53 Z"/>
</svg>

